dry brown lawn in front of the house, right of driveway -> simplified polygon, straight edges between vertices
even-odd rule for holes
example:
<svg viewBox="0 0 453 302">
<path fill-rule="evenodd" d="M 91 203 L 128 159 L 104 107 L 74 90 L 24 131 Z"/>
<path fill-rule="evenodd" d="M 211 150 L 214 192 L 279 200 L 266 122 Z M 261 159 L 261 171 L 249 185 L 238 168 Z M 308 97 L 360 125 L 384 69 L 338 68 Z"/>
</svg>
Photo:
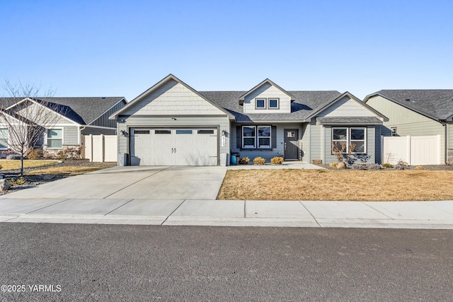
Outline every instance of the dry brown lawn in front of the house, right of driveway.
<svg viewBox="0 0 453 302">
<path fill-rule="evenodd" d="M 453 171 L 228 170 L 217 199 L 449 200 Z"/>
</svg>

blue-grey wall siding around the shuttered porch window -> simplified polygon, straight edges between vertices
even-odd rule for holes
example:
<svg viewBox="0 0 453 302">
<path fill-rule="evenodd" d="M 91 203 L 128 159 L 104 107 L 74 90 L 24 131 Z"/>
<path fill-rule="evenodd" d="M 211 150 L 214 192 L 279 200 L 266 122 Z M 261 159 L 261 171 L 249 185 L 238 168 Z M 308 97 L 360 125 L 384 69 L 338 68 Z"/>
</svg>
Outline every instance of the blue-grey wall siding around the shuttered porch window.
<svg viewBox="0 0 453 302">
<path fill-rule="evenodd" d="M 244 149 L 241 150 L 242 146 L 236 146 L 236 141 L 237 141 L 237 132 L 236 132 L 236 127 L 242 127 L 242 126 L 272 126 L 275 127 L 276 129 L 276 146 L 275 148 L 272 149 Z M 265 158 L 267 163 L 270 163 L 270 159 L 273 158 L 274 156 L 284 156 L 285 155 L 285 129 L 298 129 L 299 131 L 299 137 L 298 139 L 301 139 L 302 135 L 302 128 L 300 123 L 260 123 L 260 124 L 236 124 L 233 123 L 231 125 L 231 138 L 230 138 L 230 144 L 231 144 L 231 149 L 237 150 L 239 149 L 239 153 L 241 154 L 241 157 L 248 157 L 250 158 L 250 161 L 253 161 L 253 158 L 256 158 L 258 156 Z M 273 134 L 271 134 L 273 135 Z"/>
</svg>

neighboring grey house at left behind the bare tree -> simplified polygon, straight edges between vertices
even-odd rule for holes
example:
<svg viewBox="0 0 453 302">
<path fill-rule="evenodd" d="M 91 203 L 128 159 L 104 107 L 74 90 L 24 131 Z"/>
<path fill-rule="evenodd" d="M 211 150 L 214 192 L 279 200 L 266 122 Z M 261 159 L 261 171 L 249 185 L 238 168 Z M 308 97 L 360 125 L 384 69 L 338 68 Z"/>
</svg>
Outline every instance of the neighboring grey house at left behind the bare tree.
<svg viewBox="0 0 453 302">
<path fill-rule="evenodd" d="M 123 97 L 110 98 L 2 98 L 1 108 L 10 113 L 11 117 L 26 116 L 29 123 L 40 120 L 39 126 L 47 128 L 45 137 L 38 143 L 38 147 L 57 152 L 67 148 L 79 148 L 81 135 L 88 134 L 116 134 L 115 121 L 108 117 L 127 104 Z M 43 109 L 44 108 L 44 109 Z M 26 112 L 26 114 L 25 114 Z M 42 117 L 33 120 L 33 113 L 45 112 L 52 120 L 51 124 L 42 122 Z M 45 120 L 45 119 L 44 119 Z M 6 124 L 0 122 L 0 147 L 7 149 Z"/>
</svg>

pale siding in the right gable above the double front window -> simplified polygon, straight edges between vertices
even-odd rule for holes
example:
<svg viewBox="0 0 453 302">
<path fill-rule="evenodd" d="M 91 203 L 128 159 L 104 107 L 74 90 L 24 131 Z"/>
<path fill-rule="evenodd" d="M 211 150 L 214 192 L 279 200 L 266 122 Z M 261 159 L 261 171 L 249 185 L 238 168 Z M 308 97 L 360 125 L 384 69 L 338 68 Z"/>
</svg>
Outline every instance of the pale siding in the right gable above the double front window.
<svg viewBox="0 0 453 302">
<path fill-rule="evenodd" d="M 317 117 L 375 117 L 376 113 L 365 108 L 365 106 L 352 100 L 348 95 L 338 100 L 326 110 L 323 110 Z"/>
</svg>

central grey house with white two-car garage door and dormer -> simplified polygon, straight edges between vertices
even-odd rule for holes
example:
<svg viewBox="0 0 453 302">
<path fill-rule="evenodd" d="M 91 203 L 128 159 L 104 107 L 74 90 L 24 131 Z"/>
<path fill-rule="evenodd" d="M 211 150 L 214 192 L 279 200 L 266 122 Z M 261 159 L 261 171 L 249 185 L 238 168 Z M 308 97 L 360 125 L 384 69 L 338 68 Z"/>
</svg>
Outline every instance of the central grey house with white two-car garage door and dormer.
<svg viewBox="0 0 453 302">
<path fill-rule="evenodd" d="M 374 162 L 386 120 L 348 92 L 285 91 L 268 79 L 250 91 L 195 91 L 171 74 L 110 118 L 132 165 L 223 165 L 231 153 L 331 163 L 340 142 Z"/>
</svg>

